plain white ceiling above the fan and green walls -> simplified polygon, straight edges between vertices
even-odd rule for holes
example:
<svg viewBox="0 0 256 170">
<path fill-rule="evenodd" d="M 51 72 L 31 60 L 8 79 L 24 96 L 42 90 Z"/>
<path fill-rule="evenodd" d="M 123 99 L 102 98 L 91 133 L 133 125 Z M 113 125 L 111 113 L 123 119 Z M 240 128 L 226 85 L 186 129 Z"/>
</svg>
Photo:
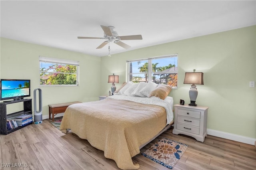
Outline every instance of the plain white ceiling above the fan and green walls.
<svg viewBox="0 0 256 170">
<path fill-rule="evenodd" d="M 256 1 L 0 1 L 1 37 L 108 55 L 100 25 L 114 26 L 119 36 L 141 34 L 143 40 L 113 42 L 110 53 L 173 42 L 256 24 Z"/>
</svg>

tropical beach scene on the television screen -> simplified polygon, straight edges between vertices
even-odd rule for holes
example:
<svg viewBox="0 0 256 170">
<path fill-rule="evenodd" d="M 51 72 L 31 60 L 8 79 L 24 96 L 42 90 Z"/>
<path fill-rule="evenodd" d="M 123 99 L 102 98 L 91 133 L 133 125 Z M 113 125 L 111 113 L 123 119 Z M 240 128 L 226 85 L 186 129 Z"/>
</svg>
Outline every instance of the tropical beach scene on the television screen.
<svg viewBox="0 0 256 170">
<path fill-rule="evenodd" d="M 2 81 L 2 98 L 29 95 L 28 81 Z"/>
</svg>

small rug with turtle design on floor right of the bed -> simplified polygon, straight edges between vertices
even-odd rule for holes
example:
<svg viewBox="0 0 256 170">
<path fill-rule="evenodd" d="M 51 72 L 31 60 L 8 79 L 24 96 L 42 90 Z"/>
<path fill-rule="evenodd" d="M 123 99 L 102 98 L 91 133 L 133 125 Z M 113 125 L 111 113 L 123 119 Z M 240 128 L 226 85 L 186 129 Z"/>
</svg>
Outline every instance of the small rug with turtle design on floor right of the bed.
<svg viewBox="0 0 256 170">
<path fill-rule="evenodd" d="M 188 145 L 186 144 L 162 138 L 142 153 L 142 155 L 166 168 L 172 169 L 187 148 Z"/>
</svg>

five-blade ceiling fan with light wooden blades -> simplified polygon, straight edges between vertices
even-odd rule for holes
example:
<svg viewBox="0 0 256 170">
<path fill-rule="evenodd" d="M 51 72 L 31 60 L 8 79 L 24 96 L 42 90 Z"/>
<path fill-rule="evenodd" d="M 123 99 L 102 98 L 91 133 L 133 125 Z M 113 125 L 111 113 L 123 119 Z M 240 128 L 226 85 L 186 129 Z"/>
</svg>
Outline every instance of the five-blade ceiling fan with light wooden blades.
<svg viewBox="0 0 256 170">
<path fill-rule="evenodd" d="M 132 35 L 132 36 L 118 36 L 117 32 L 115 31 L 115 27 L 113 26 L 101 26 L 102 30 L 104 31 L 104 38 L 98 38 L 98 37 L 77 37 L 78 39 L 102 39 L 107 40 L 103 43 L 101 43 L 96 49 L 100 49 L 104 47 L 109 42 L 114 42 L 117 45 L 128 49 L 131 46 L 121 42 L 120 40 L 142 40 L 141 35 Z"/>
</svg>

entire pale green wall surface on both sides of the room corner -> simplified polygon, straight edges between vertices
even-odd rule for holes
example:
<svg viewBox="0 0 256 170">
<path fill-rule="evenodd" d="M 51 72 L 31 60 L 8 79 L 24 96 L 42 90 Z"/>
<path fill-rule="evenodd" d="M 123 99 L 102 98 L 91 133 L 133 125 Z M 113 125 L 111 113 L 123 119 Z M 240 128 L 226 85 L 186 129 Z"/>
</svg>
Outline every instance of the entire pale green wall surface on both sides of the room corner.
<svg viewBox="0 0 256 170">
<path fill-rule="evenodd" d="M 120 87 L 126 81 L 126 60 L 178 53 L 178 89 L 170 93 L 174 104 L 180 99 L 189 103 L 190 85 L 183 84 L 185 72 L 202 71 L 204 85 L 197 85 L 196 103 L 209 107 L 207 128 L 256 138 L 256 88 L 249 87 L 249 81 L 256 81 L 256 26 L 112 57 L 96 57 L 6 38 L 1 38 L 0 45 L 0 78 L 31 79 L 31 98 L 34 89 L 43 91 L 43 117 L 48 116 L 48 104 L 96 101 L 99 95 L 107 95 L 111 87 L 111 83 L 107 83 L 108 75 L 112 73 L 120 76 L 120 83 L 116 83 Z M 80 61 L 80 85 L 40 87 L 39 55 Z"/>
</svg>

